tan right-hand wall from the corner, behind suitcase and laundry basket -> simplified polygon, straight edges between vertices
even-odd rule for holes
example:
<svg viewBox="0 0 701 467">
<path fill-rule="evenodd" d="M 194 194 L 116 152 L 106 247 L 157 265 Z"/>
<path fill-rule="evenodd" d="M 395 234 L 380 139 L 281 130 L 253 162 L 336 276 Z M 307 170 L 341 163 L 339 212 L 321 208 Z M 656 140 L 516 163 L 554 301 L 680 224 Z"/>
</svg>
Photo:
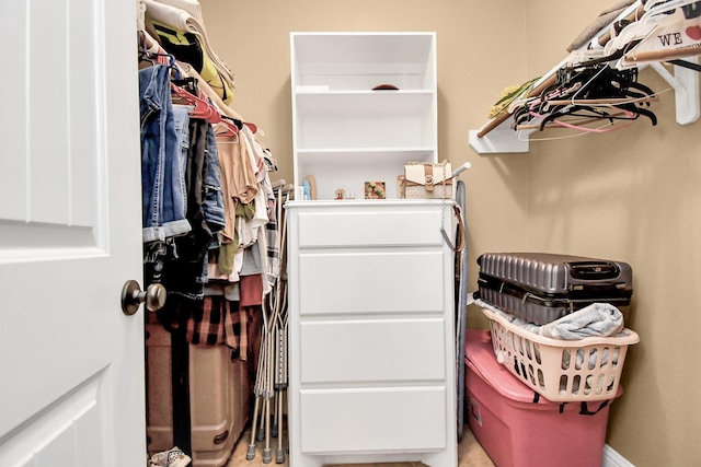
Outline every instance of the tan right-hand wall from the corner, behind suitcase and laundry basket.
<svg viewBox="0 0 701 467">
<path fill-rule="evenodd" d="M 591 3 L 591 19 L 611 4 Z M 547 20 L 560 4 L 529 2 L 529 66 L 545 69 L 564 58 L 548 54 L 550 63 L 543 62 L 540 45 L 547 36 L 561 38 L 563 50 L 570 44 L 566 22 Z M 698 466 L 701 374 L 693 347 L 701 329 L 701 122 L 675 122 L 674 92 L 665 91 L 669 85 L 655 71 L 642 71 L 639 81 L 662 92 L 652 106 L 657 126 L 641 118 L 621 131 L 531 143 L 529 247 L 632 265 L 627 324 L 641 343 L 627 359 L 624 395 L 612 406 L 608 442 L 639 467 Z"/>
</svg>

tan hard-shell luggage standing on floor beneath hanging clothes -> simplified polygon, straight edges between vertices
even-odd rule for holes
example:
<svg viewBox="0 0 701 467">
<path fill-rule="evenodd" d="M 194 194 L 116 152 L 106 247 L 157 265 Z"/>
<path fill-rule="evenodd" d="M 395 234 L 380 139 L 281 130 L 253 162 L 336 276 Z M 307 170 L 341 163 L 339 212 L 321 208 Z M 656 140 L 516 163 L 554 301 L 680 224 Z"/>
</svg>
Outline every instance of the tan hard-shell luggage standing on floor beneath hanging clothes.
<svg viewBox="0 0 701 467">
<path fill-rule="evenodd" d="M 171 332 L 149 323 L 146 334 L 149 455 L 176 444 L 191 454 L 193 467 L 225 466 L 251 417 L 249 363 L 232 360 L 226 346 L 184 343 L 186 381 L 173 378 Z M 177 400 L 181 394 L 186 398 L 185 408 Z M 185 413 L 189 417 L 183 427 Z"/>
</svg>

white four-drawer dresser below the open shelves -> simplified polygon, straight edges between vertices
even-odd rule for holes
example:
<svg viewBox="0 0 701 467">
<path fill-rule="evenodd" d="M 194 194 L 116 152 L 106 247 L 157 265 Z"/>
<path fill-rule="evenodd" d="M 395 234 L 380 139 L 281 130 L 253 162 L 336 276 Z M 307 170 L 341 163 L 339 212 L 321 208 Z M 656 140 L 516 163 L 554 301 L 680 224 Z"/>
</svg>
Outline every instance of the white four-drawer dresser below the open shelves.
<svg viewBox="0 0 701 467">
<path fill-rule="evenodd" d="M 451 202 L 286 209 L 290 466 L 455 467 Z"/>
</svg>

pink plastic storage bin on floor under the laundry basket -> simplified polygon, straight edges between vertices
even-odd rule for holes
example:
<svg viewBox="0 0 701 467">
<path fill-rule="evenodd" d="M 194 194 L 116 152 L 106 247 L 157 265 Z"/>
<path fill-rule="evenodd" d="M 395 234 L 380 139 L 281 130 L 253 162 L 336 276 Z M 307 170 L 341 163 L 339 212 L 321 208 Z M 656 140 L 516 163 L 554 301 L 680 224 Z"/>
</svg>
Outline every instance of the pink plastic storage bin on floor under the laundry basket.
<svg viewBox="0 0 701 467">
<path fill-rule="evenodd" d="M 467 331 L 466 365 L 468 425 L 498 467 L 601 466 L 610 401 L 538 397 L 496 361 L 486 330 Z"/>
</svg>

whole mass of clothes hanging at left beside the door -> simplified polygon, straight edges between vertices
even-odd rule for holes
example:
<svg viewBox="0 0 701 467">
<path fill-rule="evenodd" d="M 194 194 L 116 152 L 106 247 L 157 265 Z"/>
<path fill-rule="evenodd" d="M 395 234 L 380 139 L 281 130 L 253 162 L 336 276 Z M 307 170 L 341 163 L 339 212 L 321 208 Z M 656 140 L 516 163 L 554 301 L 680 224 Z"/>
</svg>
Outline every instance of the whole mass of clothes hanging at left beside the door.
<svg viewBox="0 0 701 467">
<path fill-rule="evenodd" d="M 223 347 L 231 360 L 240 361 L 238 367 L 246 369 L 249 377 L 214 387 L 215 393 L 232 384 L 243 394 L 252 390 L 263 307 L 279 282 L 278 261 L 271 258 L 280 245 L 268 243 L 276 230 L 269 180 L 276 166 L 255 139 L 262 130 L 229 105 L 233 73 L 211 50 L 199 2 L 141 4 L 147 7 L 139 10 L 143 30 L 138 48 L 146 137 L 145 285 L 160 282 L 168 292 L 156 317 L 171 337 L 172 437 L 197 462 L 204 439 L 194 439 L 191 427 L 188 372 L 198 363 L 191 360 L 189 349 Z M 235 151 L 238 157 L 232 156 Z M 220 258 L 229 262 L 226 275 L 210 271 Z M 207 350 L 221 354 L 220 349 Z M 197 410 L 193 407 L 192 416 Z M 232 417 L 242 430 L 250 415 L 241 407 Z M 237 439 L 240 431 L 231 428 L 223 435 Z"/>
</svg>

